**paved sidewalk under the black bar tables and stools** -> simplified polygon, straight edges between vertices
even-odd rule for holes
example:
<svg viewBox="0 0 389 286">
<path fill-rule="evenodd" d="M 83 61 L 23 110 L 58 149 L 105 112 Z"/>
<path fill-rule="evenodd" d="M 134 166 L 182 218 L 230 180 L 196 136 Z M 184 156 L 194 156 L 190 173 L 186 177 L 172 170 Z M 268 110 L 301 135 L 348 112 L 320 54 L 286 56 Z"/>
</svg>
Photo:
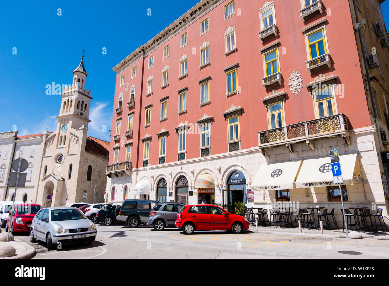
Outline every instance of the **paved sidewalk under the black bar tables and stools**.
<svg viewBox="0 0 389 286">
<path fill-rule="evenodd" d="M 346 231 L 344 230 L 323 230 L 323 234 L 320 230 L 302 228 L 300 233 L 299 228 L 281 228 L 281 227 L 269 227 L 269 226 L 258 226 L 258 230 L 255 230 L 255 226 L 250 226 L 250 230 L 258 233 L 273 233 L 273 234 L 284 234 L 284 235 L 304 235 L 304 236 L 319 236 L 319 237 L 347 237 Z M 349 231 L 350 232 L 350 231 Z M 362 237 L 374 237 L 375 239 L 389 240 L 389 232 L 379 231 L 377 233 L 361 232 Z"/>
</svg>

